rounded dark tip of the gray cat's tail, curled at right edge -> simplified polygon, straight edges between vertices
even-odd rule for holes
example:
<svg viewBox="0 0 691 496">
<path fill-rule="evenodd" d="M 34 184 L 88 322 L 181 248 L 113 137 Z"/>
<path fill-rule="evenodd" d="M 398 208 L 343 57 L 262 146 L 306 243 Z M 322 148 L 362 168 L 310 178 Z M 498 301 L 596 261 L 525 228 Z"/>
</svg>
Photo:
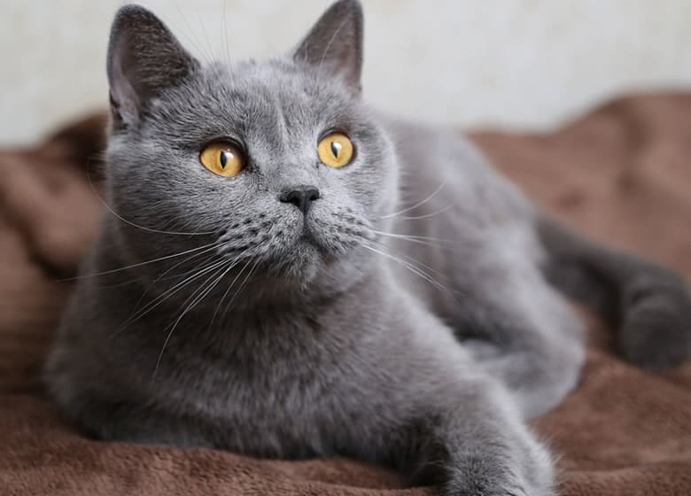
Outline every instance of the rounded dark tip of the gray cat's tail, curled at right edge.
<svg viewBox="0 0 691 496">
<path fill-rule="evenodd" d="M 666 271 L 641 277 L 625 293 L 618 345 L 626 360 L 648 370 L 691 358 L 691 293 Z"/>
</svg>

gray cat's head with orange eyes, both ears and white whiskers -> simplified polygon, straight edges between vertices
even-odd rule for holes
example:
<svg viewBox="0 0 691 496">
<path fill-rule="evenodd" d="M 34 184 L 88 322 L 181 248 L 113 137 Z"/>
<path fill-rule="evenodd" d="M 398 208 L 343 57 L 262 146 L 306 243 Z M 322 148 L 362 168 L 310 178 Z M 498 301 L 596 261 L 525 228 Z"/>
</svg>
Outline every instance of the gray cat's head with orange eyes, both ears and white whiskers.
<svg viewBox="0 0 691 496">
<path fill-rule="evenodd" d="M 146 260 L 204 240 L 253 276 L 352 283 L 397 190 L 392 143 L 361 101 L 361 63 L 356 0 L 333 4 L 286 56 L 210 65 L 151 12 L 121 8 L 106 178 L 123 248 Z"/>
</svg>

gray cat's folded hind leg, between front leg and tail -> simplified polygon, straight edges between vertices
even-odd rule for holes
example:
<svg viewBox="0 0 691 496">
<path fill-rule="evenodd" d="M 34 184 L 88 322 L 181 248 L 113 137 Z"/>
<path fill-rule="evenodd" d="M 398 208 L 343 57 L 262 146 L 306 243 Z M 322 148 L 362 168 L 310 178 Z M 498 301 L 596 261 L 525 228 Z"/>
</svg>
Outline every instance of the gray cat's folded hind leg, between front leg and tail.
<svg viewBox="0 0 691 496">
<path fill-rule="evenodd" d="M 554 408 L 578 384 L 583 324 L 538 267 L 495 260 L 465 287 L 450 322 L 480 368 L 505 384 L 525 417 Z"/>
</svg>

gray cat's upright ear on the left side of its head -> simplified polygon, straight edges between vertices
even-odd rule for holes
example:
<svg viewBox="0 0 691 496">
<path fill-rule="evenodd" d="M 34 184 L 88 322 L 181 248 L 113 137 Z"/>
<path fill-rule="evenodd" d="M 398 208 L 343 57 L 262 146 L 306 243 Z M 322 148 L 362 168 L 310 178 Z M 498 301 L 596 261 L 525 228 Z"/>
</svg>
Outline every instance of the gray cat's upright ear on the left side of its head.
<svg viewBox="0 0 691 496">
<path fill-rule="evenodd" d="M 198 67 L 198 61 L 159 18 L 138 5 L 120 8 L 113 20 L 107 58 L 116 124 L 135 124 L 151 97 Z"/>
</svg>

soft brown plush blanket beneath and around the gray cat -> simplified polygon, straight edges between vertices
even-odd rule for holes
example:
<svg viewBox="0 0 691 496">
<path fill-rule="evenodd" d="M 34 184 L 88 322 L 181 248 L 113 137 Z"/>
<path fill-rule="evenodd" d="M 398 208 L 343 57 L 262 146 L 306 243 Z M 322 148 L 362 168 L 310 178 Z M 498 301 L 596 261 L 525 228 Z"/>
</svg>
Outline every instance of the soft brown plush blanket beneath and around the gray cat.
<svg viewBox="0 0 691 496">
<path fill-rule="evenodd" d="M 0 494 L 426 494 L 354 461 L 89 441 L 58 415 L 39 374 L 71 289 L 58 279 L 93 236 L 100 204 L 84 171 L 102 127 L 97 116 L 0 152 Z M 550 135 L 474 139 L 541 205 L 691 278 L 691 95 L 619 100 Z M 591 329 L 578 391 L 535 422 L 561 454 L 563 493 L 691 495 L 691 365 L 644 373 Z"/>
</svg>

